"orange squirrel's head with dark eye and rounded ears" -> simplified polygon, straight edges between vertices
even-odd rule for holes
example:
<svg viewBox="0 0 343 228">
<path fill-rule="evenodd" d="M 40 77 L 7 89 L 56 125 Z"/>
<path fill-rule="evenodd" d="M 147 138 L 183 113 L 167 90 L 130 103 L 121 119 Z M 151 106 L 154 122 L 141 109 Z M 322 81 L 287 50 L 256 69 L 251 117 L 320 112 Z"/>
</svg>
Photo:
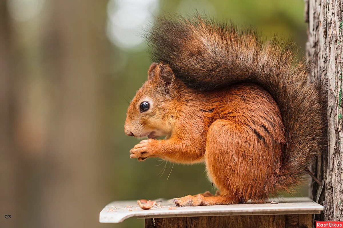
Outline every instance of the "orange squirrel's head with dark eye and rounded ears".
<svg viewBox="0 0 343 228">
<path fill-rule="evenodd" d="M 174 84 L 175 76 L 168 64 L 151 64 L 148 79 L 129 105 L 124 126 L 126 135 L 157 138 L 171 133 Z"/>
</svg>

